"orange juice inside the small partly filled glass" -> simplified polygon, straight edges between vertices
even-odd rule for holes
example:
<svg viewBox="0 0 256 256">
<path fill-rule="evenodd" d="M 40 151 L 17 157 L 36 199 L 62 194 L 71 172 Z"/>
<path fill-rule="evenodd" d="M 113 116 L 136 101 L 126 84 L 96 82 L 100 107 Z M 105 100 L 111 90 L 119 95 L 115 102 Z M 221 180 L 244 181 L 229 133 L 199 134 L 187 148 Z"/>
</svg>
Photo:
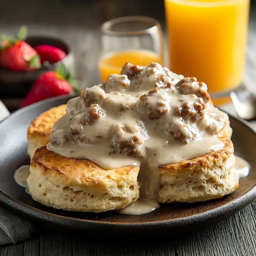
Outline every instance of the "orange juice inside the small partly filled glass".
<svg viewBox="0 0 256 256">
<path fill-rule="evenodd" d="M 120 74 L 126 62 L 130 62 L 134 65 L 147 66 L 152 61 L 162 64 L 161 57 L 151 51 L 127 50 L 108 53 L 99 61 L 101 82 L 106 81 L 111 74 Z"/>
</svg>

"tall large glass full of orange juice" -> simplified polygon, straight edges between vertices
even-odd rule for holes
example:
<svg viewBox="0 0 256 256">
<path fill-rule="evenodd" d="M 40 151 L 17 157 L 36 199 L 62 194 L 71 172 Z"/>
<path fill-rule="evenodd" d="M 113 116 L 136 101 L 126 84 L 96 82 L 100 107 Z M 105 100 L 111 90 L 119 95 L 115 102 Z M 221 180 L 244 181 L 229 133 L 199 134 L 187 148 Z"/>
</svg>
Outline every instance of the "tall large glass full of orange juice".
<svg viewBox="0 0 256 256">
<path fill-rule="evenodd" d="M 164 0 L 169 68 L 205 82 L 212 98 L 243 80 L 250 0 Z"/>
</svg>

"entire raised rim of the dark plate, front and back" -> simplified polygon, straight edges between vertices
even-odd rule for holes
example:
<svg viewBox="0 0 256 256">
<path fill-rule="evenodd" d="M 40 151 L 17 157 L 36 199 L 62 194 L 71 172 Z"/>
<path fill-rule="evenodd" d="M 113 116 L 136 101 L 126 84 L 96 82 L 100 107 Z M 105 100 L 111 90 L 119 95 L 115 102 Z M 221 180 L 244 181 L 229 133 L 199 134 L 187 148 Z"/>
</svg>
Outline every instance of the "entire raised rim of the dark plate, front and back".
<svg viewBox="0 0 256 256">
<path fill-rule="evenodd" d="M 71 99 L 76 96 L 73 95 L 62 95 L 58 97 L 54 97 L 51 99 L 47 100 L 42 100 L 40 102 L 36 102 L 28 107 L 18 109 L 15 112 L 13 112 L 10 116 L 5 118 L 2 122 L 0 122 L 0 127 L 2 123 L 5 123 L 6 120 L 9 118 L 13 118 L 16 115 L 19 115 L 25 111 L 29 111 L 29 109 L 35 107 L 35 106 L 40 106 L 42 104 L 47 104 L 48 102 L 52 101 L 57 101 L 61 99 Z M 221 109 L 221 107 L 220 107 Z M 227 113 L 229 116 L 232 118 L 236 119 L 240 123 L 242 123 L 244 126 L 249 128 L 253 133 L 256 133 L 249 125 L 249 122 L 236 117 L 232 114 Z M 53 224 L 59 224 L 61 226 L 70 226 L 70 222 L 76 222 L 80 224 L 87 224 L 100 226 L 102 228 L 104 227 L 159 227 L 159 226 L 166 226 L 166 227 L 176 227 L 176 226 L 187 226 L 187 225 L 193 225 L 213 219 L 221 219 L 221 218 L 226 218 L 234 213 L 240 211 L 242 208 L 246 207 L 247 205 L 251 204 L 254 200 L 256 199 L 256 183 L 249 189 L 247 190 L 244 194 L 238 196 L 237 198 L 231 200 L 230 202 L 220 205 L 218 207 L 215 207 L 211 210 L 207 210 L 202 213 L 197 213 L 197 214 L 192 214 L 186 217 L 180 217 L 180 218 L 174 218 L 174 219 L 169 219 L 169 220 L 159 220 L 159 221 L 145 221 L 145 222 L 116 222 L 116 221 L 100 221 L 100 220 L 86 220 L 86 219 L 80 219 L 80 218 L 74 218 L 74 217 L 67 217 L 67 216 L 62 216 L 58 215 L 55 213 L 51 212 L 45 212 L 43 210 L 34 208 L 30 205 L 24 204 L 11 196 L 6 195 L 3 191 L 0 189 L 0 203 L 3 205 L 6 205 L 9 209 L 10 212 L 17 212 L 20 215 L 24 215 L 25 217 L 32 217 L 40 221 L 46 221 L 50 222 Z M 0 204 L 0 205 L 1 205 Z M 223 217 L 226 216 L 226 217 Z M 64 222 L 63 222 L 64 220 Z M 86 228 L 86 227 L 81 227 L 81 228 Z"/>
</svg>

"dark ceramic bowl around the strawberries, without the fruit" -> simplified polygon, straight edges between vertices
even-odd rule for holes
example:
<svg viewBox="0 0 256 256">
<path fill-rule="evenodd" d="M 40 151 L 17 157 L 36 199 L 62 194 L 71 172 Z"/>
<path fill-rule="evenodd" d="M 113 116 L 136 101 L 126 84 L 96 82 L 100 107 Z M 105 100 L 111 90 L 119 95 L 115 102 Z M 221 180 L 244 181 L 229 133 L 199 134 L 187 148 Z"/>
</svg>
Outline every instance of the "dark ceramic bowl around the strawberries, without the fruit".
<svg viewBox="0 0 256 256">
<path fill-rule="evenodd" d="M 62 62 L 69 68 L 73 68 L 74 56 L 67 42 L 62 39 L 48 36 L 28 36 L 26 42 L 35 47 L 39 44 L 49 44 L 66 52 L 67 56 Z M 11 71 L 0 68 L 0 97 L 1 98 L 24 98 L 36 78 L 48 70 L 56 70 L 58 62 L 45 65 L 33 71 Z"/>
</svg>

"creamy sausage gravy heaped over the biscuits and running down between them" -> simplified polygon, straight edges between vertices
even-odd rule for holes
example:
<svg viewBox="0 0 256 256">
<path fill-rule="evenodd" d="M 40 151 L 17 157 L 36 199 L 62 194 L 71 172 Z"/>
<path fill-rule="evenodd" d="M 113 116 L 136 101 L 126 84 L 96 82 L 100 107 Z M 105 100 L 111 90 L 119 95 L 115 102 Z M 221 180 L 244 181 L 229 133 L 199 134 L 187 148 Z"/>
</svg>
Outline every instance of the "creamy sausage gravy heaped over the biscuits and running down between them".
<svg viewBox="0 0 256 256">
<path fill-rule="evenodd" d="M 206 84 L 195 77 L 184 78 L 158 63 L 126 63 L 121 75 L 110 75 L 68 101 L 47 149 L 104 169 L 139 166 L 140 200 L 156 201 L 159 166 L 223 148 L 218 134 L 228 115 L 209 100 Z"/>
</svg>

